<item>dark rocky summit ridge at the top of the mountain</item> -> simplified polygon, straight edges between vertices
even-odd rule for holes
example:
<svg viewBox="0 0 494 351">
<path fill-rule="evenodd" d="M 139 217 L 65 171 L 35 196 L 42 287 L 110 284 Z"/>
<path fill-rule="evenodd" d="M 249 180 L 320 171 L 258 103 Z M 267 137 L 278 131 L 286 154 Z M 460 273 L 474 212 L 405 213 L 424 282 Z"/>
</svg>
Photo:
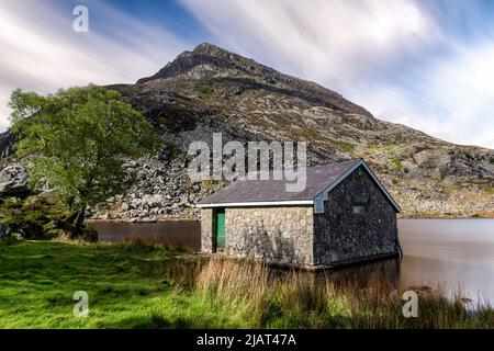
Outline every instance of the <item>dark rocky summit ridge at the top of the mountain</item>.
<svg viewBox="0 0 494 351">
<path fill-rule="evenodd" d="M 210 43 L 201 43 L 192 52 L 183 52 L 168 63 L 156 75 L 139 79 L 137 84 L 151 82 L 166 84 L 162 80 L 195 81 L 201 84 L 236 86 L 236 90 L 260 90 L 278 94 L 297 97 L 333 110 L 371 116 L 363 107 L 344 99 L 311 81 L 283 75 L 251 58 L 231 53 Z M 161 82 L 159 82 L 161 81 Z"/>
</svg>

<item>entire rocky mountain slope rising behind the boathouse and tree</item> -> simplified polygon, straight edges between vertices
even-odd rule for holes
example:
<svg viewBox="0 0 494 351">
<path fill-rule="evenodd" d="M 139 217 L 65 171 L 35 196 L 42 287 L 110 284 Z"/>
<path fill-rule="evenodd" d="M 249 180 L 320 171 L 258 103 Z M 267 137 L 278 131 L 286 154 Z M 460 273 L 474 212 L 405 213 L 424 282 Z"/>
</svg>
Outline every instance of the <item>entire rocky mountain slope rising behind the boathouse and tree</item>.
<svg viewBox="0 0 494 351">
<path fill-rule="evenodd" d="M 191 183 L 187 149 L 194 140 L 211 143 L 214 132 L 223 134 L 224 143 L 307 141 L 311 165 L 362 157 L 408 216 L 494 213 L 494 150 L 379 121 L 336 92 L 211 44 L 180 54 L 135 84 L 109 88 L 144 112 L 167 147 L 130 162 L 141 174 L 139 184 L 98 216 L 197 216 L 190 205 L 224 182 Z M 0 145 L 0 154 L 5 148 Z"/>
</svg>

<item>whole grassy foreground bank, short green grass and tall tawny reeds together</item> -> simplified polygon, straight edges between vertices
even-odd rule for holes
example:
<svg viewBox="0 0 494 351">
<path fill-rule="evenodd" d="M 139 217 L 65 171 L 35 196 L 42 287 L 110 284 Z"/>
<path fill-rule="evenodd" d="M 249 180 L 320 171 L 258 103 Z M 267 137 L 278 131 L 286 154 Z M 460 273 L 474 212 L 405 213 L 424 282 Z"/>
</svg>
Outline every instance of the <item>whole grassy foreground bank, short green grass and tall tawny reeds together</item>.
<svg viewBox="0 0 494 351">
<path fill-rule="evenodd" d="M 493 328 L 492 309 L 468 313 L 422 296 L 402 316 L 401 292 L 375 281 L 341 284 L 263 263 L 205 259 L 144 245 L 0 240 L 0 328 Z M 89 295 L 74 317 L 72 294 Z"/>
</svg>

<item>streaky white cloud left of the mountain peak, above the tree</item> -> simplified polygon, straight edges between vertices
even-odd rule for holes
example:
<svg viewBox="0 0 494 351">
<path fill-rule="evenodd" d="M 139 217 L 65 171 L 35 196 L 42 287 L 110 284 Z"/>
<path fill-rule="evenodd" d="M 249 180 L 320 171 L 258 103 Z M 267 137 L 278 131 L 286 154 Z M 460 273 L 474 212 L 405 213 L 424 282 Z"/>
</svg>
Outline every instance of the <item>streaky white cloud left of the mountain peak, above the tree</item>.
<svg viewBox="0 0 494 351">
<path fill-rule="evenodd" d="M 111 36 L 93 30 L 96 18 L 113 24 L 106 29 Z M 89 82 L 134 82 L 190 46 L 103 2 L 89 5 L 89 33 L 75 33 L 71 12 L 31 0 L 0 3 L 0 131 L 15 88 L 47 93 Z"/>
</svg>

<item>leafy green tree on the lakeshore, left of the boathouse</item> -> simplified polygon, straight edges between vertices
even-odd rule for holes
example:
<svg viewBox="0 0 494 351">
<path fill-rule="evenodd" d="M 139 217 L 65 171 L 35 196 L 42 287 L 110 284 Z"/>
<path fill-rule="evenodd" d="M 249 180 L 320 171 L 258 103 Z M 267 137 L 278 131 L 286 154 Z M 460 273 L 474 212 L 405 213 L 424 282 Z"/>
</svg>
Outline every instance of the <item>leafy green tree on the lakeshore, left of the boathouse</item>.
<svg viewBox="0 0 494 351">
<path fill-rule="evenodd" d="M 16 154 L 36 188 L 48 185 L 83 228 L 88 206 L 121 194 L 136 180 L 124 162 L 158 150 L 149 122 L 119 92 L 90 84 L 43 97 L 15 90 L 10 100 Z"/>
</svg>

